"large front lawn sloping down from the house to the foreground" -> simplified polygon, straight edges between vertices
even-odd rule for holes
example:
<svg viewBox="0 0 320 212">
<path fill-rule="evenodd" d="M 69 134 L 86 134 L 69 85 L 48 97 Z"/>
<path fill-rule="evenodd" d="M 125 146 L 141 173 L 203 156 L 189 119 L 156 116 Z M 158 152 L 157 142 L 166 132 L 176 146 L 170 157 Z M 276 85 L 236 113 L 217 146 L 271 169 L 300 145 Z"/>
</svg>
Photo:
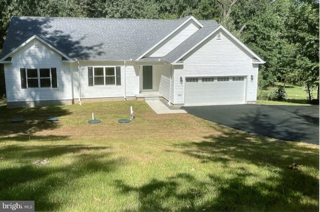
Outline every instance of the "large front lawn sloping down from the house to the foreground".
<svg viewBox="0 0 320 212">
<path fill-rule="evenodd" d="M 136 118 L 117 123 L 130 106 Z M 87 123 L 92 112 L 101 123 Z M 319 210 L 316 145 L 156 115 L 138 101 L 0 113 L 0 200 L 34 200 L 35 211 Z"/>
</svg>

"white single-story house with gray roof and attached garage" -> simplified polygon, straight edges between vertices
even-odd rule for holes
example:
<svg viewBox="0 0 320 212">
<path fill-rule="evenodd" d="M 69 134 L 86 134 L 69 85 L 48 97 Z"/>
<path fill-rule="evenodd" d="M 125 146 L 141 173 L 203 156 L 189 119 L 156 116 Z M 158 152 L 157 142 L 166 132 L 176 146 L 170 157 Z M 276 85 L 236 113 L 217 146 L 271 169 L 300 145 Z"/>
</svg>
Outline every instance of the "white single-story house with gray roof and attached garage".
<svg viewBox="0 0 320 212">
<path fill-rule="evenodd" d="M 13 16 L 0 55 L 7 107 L 163 97 L 255 103 L 264 61 L 214 20 Z"/>
</svg>

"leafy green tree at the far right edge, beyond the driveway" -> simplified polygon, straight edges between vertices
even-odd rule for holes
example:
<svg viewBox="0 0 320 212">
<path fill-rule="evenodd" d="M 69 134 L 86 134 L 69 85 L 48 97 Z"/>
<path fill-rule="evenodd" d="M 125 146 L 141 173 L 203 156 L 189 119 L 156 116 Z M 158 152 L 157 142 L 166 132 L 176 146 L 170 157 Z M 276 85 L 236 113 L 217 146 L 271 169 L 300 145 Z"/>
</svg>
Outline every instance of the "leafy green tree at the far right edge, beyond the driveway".
<svg viewBox="0 0 320 212">
<path fill-rule="evenodd" d="M 290 42 L 287 59 L 288 80 L 305 86 L 309 102 L 312 89 L 319 99 L 319 2 L 291 0 L 285 19 L 286 38 Z"/>
</svg>

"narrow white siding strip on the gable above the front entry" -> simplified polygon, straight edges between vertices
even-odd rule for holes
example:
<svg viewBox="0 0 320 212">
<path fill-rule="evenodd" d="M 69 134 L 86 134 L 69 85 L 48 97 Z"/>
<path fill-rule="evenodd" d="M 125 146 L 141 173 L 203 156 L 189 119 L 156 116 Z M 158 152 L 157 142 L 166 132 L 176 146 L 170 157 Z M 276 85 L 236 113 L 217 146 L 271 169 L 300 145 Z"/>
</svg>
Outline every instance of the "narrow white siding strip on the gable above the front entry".
<svg viewBox="0 0 320 212">
<path fill-rule="evenodd" d="M 190 20 L 179 28 L 176 32 L 170 35 L 162 43 L 159 44 L 155 49 L 149 52 L 146 56 L 150 57 L 162 57 L 172 51 L 175 47 L 181 44 L 189 36 L 198 30 L 198 26 L 193 20 Z"/>
</svg>

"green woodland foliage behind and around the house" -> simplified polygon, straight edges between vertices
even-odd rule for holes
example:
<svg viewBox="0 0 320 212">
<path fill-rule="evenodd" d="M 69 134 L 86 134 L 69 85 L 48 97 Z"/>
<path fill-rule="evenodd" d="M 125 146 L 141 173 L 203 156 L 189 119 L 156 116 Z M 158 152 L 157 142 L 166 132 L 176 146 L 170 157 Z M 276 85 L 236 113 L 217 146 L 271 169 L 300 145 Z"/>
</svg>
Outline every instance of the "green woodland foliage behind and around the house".
<svg viewBox="0 0 320 212">
<path fill-rule="evenodd" d="M 266 61 L 260 67 L 259 87 L 277 78 L 303 84 L 307 92 L 319 85 L 318 0 L 0 0 L 0 5 L 0 49 L 13 15 L 149 19 L 194 15 L 217 20 Z"/>
</svg>

